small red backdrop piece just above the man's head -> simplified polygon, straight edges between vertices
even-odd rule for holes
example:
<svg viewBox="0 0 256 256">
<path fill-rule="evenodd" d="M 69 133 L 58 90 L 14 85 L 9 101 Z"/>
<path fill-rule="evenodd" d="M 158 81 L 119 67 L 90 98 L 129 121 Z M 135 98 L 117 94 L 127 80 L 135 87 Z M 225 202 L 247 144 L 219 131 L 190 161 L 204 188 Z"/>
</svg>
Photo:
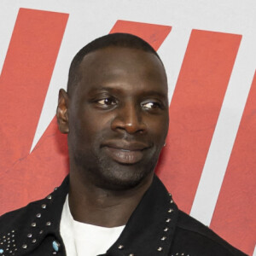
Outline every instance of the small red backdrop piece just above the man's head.
<svg viewBox="0 0 256 256">
<path fill-rule="evenodd" d="M 160 48 L 160 45 L 163 44 L 171 30 L 172 26 L 117 20 L 110 33 L 131 33 L 137 37 L 143 38 L 157 50 Z"/>
</svg>

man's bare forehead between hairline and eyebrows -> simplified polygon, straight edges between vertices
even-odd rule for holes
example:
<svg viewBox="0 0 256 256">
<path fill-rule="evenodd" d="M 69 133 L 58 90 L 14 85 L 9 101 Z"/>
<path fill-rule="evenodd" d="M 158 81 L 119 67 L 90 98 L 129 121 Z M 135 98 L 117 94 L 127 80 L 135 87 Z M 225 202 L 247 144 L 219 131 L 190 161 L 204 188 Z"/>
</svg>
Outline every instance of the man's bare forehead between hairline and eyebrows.
<svg viewBox="0 0 256 256">
<path fill-rule="evenodd" d="M 166 91 L 166 72 L 160 59 L 143 49 L 108 47 L 84 56 L 79 66 L 79 90 L 97 89 L 104 84 L 122 89 Z M 125 84 L 136 84 L 128 88 Z M 146 86 L 147 85 L 147 86 Z"/>
</svg>

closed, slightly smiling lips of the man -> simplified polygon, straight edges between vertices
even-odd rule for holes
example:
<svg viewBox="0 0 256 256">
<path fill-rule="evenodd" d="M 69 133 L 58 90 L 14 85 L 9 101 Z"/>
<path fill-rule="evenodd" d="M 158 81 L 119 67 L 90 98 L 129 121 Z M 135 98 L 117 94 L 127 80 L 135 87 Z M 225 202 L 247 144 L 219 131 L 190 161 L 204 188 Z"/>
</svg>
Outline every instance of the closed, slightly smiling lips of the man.
<svg viewBox="0 0 256 256">
<path fill-rule="evenodd" d="M 143 159 L 143 151 L 149 146 L 145 143 L 111 141 L 102 145 L 106 154 L 120 164 L 136 164 Z"/>
</svg>

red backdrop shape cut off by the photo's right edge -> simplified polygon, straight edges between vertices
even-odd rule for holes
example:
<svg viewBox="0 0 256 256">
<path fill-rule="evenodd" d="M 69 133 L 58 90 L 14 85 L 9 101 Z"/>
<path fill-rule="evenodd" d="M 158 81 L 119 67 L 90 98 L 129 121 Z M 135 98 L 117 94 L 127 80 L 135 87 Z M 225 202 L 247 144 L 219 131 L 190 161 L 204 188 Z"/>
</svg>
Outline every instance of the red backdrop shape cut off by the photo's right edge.
<svg viewBox="0 0 256 256">
<path fill-rule="evenodd" d="M 256 237 L 256 73 L 247 98 L 211 228 L 253 255 Z"/>
</svg>

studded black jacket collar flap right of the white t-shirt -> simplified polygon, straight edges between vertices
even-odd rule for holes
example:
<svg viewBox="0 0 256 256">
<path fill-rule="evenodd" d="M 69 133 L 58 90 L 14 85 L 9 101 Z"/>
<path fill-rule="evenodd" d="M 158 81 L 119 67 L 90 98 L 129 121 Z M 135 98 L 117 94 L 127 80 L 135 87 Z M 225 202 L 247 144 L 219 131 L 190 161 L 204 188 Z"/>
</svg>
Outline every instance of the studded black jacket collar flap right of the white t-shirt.
<svg viewBox="0 0 256 256">
<path fill-rule="evenodd" d="M 160 179 L 154 180 L 109 255 L 168 255 L 177 223 L 177 206 Z"/>
</svg>

